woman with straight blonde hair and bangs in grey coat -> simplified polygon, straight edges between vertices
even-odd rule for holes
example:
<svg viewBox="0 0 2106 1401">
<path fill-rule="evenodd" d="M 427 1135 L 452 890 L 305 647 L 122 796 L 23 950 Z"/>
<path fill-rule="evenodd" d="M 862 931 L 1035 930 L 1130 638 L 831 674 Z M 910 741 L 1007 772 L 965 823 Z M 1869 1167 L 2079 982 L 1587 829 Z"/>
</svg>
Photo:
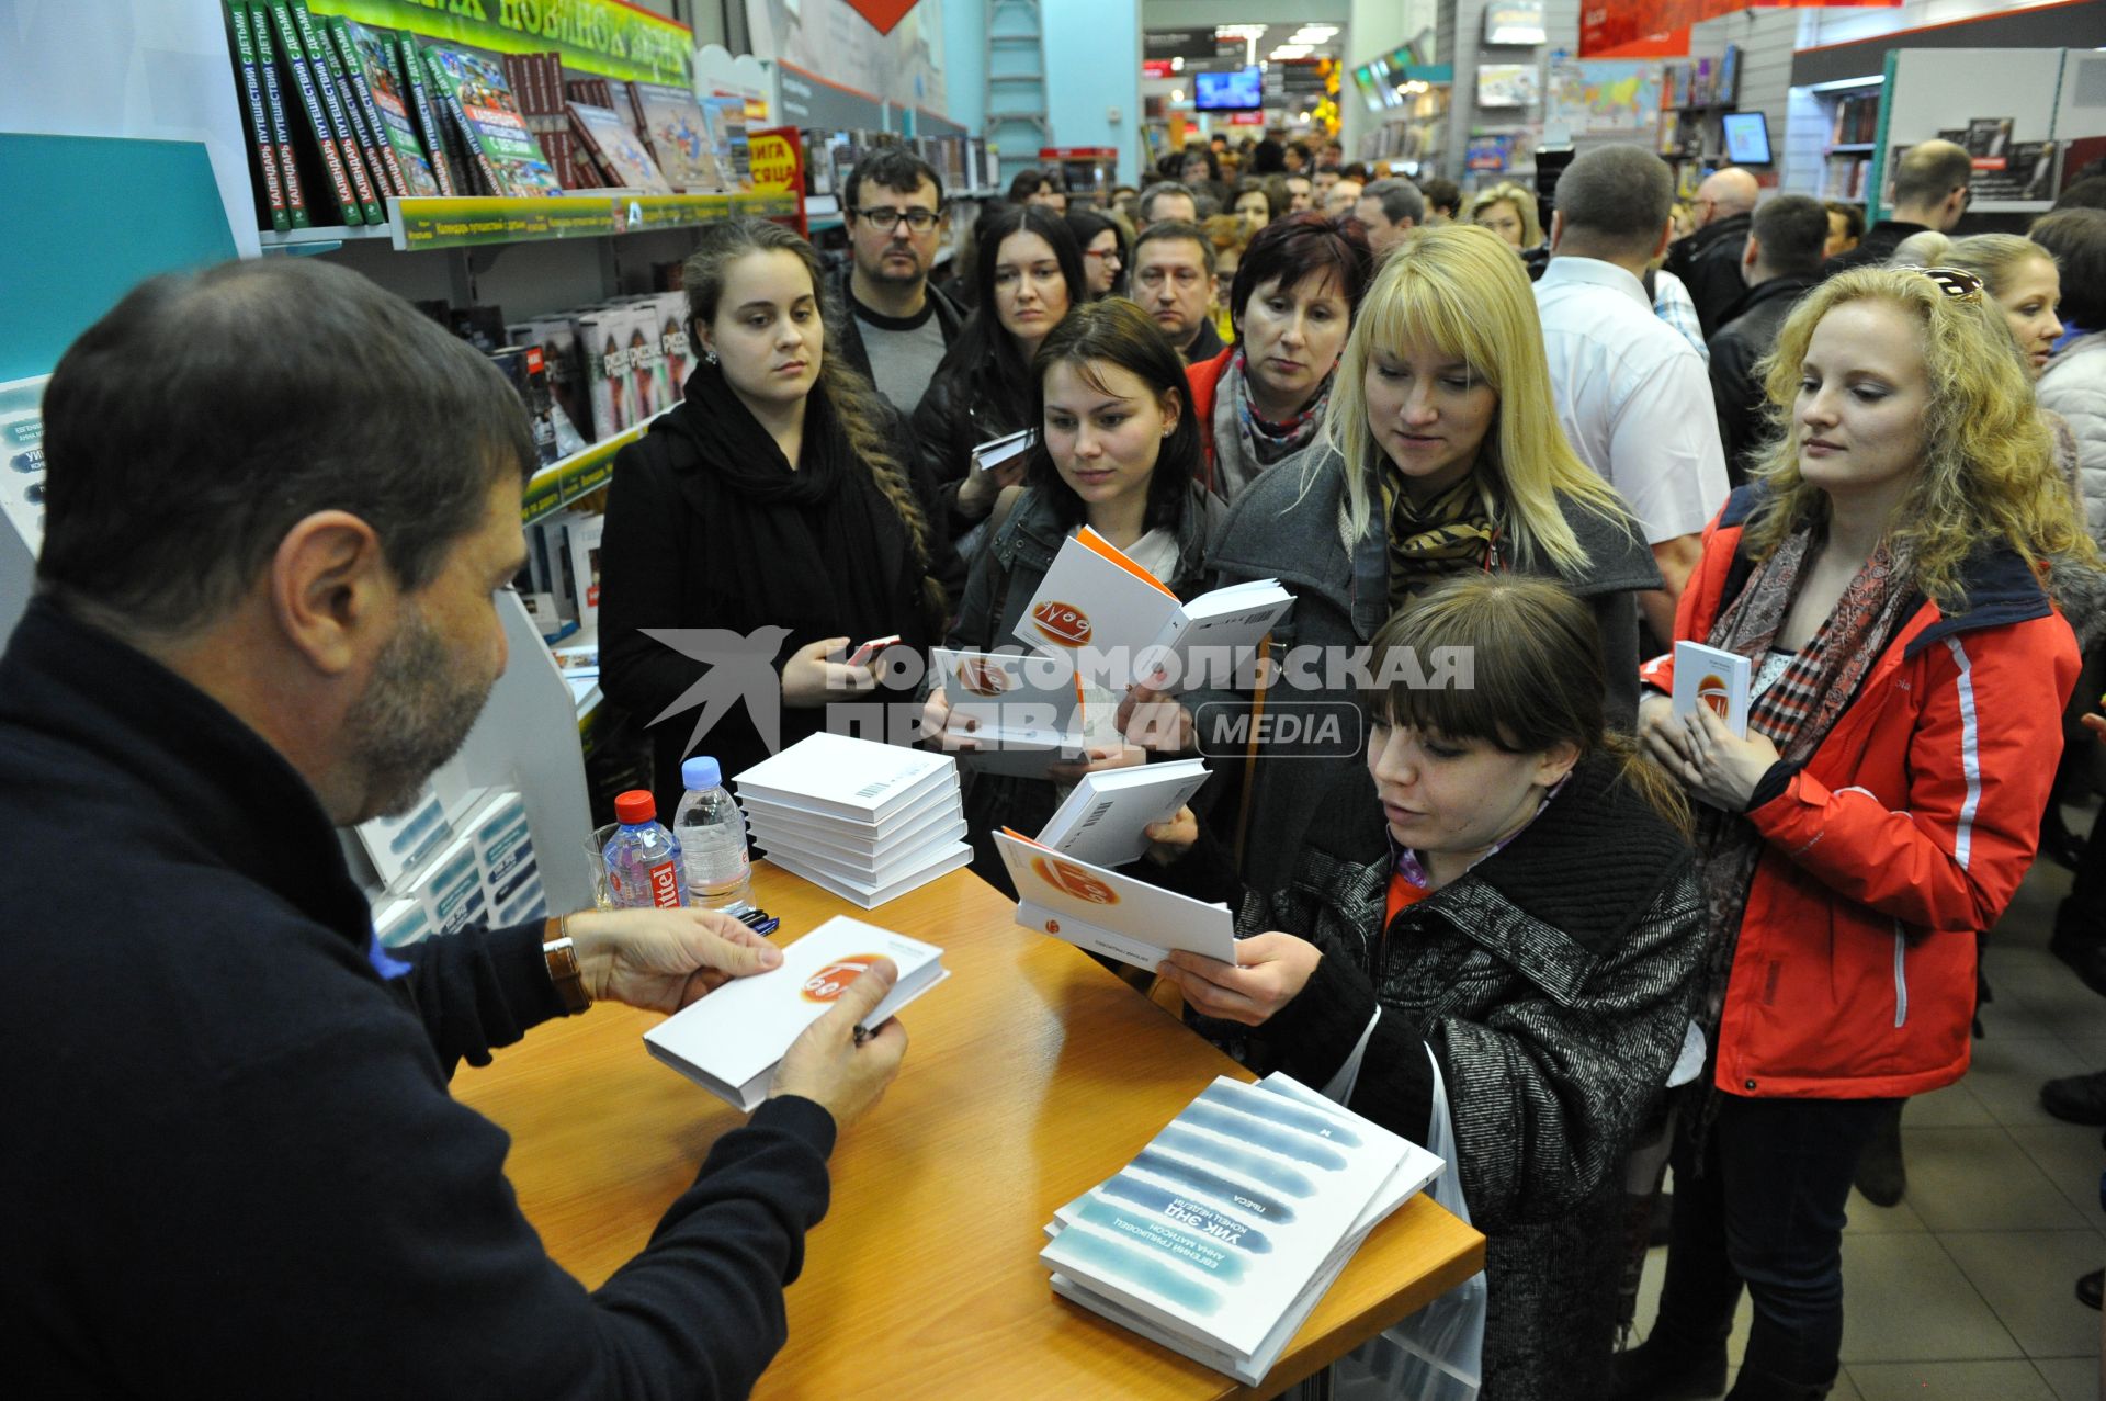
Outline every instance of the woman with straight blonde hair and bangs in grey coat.
<svg viewBox="0 0 2106 1401">
<path fill-rule="evenodd" d="M 1236 702 L 1253 697 L 1188 697 L 1200 750 L 1247 756 L 1236 857 L 1257 889 L 1287 879 L 1329 790 L 1360 771 L 1358 735 L 1339 733 L 1363 723 L 1342 664 L 1449 575 L 1529 573 L 1577 594 L 1605 647 L 1609 723 L 1636 723 L 1636 592 L 1660 588 L 1660 571 L 1565 440 L 1529 278 L 1481 228 L 1413 230 L 1384 259 L 1323 434 L 1236 499 L 1209 565 L 1219 584 L 1295 594 L 1272 636 L 1291 666 L 1259 697 L 1270 721 L 1238 731 Z"/>
</svg>

